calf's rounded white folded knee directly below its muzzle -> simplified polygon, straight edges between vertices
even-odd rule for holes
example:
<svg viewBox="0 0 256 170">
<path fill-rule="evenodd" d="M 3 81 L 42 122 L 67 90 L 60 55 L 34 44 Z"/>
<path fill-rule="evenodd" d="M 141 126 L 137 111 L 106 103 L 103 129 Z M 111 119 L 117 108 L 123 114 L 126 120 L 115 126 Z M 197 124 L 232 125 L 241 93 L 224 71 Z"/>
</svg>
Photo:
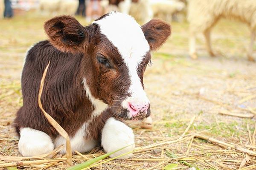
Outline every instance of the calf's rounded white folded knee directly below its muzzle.
<svg viewBox="0 0 256 170">
<path fill-rule="evenodd" d="M 131 146 L 126 147 L 128 145 Z M 102 147 L 107 153 L 126 147 L 113 153 L 110 156 L 111 158 L 134 150 L 134 133 L 132 129 L 114 118 L 109 118 L 102 129 Z M 119 159 L 127 159 L 130 156 L 132 156 L 132 153 L 122 156 Z"/>
</svg>

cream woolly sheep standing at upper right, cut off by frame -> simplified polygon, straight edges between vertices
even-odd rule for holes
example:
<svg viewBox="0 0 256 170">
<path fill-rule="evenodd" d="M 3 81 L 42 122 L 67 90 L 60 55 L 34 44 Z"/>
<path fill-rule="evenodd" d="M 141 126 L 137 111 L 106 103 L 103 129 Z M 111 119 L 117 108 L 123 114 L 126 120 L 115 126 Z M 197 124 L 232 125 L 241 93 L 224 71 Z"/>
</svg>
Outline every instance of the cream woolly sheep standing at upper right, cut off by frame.
<svg viewBox="0 0 256 170">
<path fill-rule="evenodd" d="M 254 61 L 253 41 L 256 36 L 256 1 L 255 0 L 190 0 L 188 2 L 189 55 L 197 58 L 195 35 L 203 32 L 209 54 L 214 57 L 210 43 L 210 31 L 220 18 L 234 18 L 247 23 L 250 31 L 250 44 L 247 51 L 249 61 Z"/>
</svg>

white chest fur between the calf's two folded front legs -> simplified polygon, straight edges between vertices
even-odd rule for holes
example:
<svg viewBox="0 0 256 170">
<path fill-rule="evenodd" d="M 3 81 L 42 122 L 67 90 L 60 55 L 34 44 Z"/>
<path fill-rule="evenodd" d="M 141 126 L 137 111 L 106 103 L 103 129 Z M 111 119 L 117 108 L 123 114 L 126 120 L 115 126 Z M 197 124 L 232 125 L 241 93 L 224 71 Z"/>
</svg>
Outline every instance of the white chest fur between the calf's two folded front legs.
<svg viewBox="0 0 256 170">
<path fill-rule="evenodd" d="M 75 136 L 73 136 L 73 138 L 70 139 L 70 143 L 71 143 L 71 149 L 72 152 L 77 150 L 80 153 L 84 153 L 87 152 L 89 150 L 92 150 L 97 142 L 93 139 L 85 139 L 85 137 L 88 135 L 86 134 L 86 130 L 87 130 L 87 123 L 84 123 L 81 128 L 79 130 L 77 130 Z M 64 137 L 62 136 L 58 136 L 55 140 L 54 140 L 54 145 L 55 147 L 58 147 L 59 145 L 64 144 L 64 146 L 66 146 L 66 139 L 64 139 Z M 66 153 L 66 147 L 64 147 L 63 150 L 60 151 L 61 154 L 65 154 Z"/>
</svg>

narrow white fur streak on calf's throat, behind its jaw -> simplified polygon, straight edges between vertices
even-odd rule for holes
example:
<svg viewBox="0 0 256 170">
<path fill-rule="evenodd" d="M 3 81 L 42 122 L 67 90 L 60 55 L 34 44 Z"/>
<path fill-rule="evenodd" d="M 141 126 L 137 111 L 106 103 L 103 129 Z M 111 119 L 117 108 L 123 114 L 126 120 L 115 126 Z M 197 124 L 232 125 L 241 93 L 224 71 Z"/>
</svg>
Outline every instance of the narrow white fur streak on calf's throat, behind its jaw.
<svg viewBox="0 0 256 170">
<path fill-rule="evenodd" d="M 93 106 L 94 106 L 94 111 L 92 113 L 92 116 L 99 116 L 103 111 L 105 111 L 105 109 L 108 108 L 108 105 L 104 102 L 102 102 L 99 99 L 95 99 L 93 97 L 93 95 L 90 92 L 90 88 L 86 83 L 86 79 L 83 79 L 83 84 L 84 84 L 84 90 L 86 91 L 86 94 L 88 96 L 88 98 L 90 99 L 90 101 L 92 102 Z"/>
</svg>

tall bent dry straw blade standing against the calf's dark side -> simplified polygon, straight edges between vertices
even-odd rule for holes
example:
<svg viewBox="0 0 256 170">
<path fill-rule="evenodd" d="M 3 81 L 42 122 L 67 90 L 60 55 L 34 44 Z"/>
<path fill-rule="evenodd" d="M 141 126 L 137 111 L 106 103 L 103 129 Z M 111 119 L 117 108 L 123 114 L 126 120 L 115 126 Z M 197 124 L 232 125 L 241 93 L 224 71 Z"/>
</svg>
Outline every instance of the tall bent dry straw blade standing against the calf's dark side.
<svg viewBox="0 0 256 170">
<path fill-rule="evenodd" d="M 44 116 L 47 118 L 49 123 L 57 130 L 58 133 L 60 133 L 61 136 L 63 136 L 66 139 L 66 152 L 67 152 L 67 164 L 68 166 L 72 166 L 72 150 L 71 150 L 71 144 L 70 144 L 70 138 L 67 134 L 67 132 L 61 127 L 61 125 L 58 124 L 43 108 L 42 102 L 41 102 L 41 96 L 44 88 L 44 79 L 47 74 L 47 70 L 49 68 L 50 61 L 47 65 L 47 67 L 44 70 L 43 77 L 41 79 L 41 84 L 40 84 L 40 89 L 39 89 L 39 94 L 38 94 L 38 105 L 39 108 L 42 110 L 44 113 Z"/>
</svg>

